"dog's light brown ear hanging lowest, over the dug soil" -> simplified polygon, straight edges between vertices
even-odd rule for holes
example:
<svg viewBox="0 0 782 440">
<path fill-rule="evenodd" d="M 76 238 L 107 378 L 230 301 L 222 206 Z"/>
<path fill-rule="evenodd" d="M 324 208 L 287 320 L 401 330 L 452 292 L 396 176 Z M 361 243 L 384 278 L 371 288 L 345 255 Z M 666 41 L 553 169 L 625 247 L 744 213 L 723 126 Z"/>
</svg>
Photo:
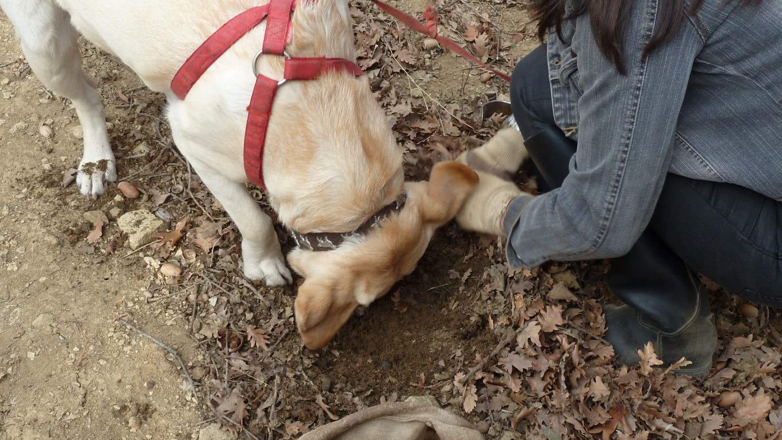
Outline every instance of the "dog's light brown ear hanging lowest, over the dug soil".
<svg viewBox="0 0 782 440">
<path fill-rule="evenodd" d="M 350 277 L 318 274 L 304 280 L 296 296 L 296 326 L 307 348 L 328 344 L 358 306 Z"/>
</svg>

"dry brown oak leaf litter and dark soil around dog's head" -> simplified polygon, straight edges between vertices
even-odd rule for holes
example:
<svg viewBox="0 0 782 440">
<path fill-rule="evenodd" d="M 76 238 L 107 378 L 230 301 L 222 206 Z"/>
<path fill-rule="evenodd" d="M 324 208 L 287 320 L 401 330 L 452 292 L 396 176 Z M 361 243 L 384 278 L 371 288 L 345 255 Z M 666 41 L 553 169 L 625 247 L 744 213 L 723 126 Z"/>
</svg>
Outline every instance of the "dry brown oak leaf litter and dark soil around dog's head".
<svg viewBox="0 0 782 440">
<path fill-rule="evenodd" d="M 517 2 L 436 5 L 440 32 L 496 67 L 510 71 L 518 60 L 514 45 L 533 45 L 525 15 L 497 25 L 499 11 L 517 8 Z M 482 71 L 472 68 L 457 70 L 461 79 L 452 77 L 465 84 L 459 93 L 439 92 L 438 77 L 453 74 L 443 67 L 454 66 L 450 53 L 425 45 L 370 2 L 357 2 L 350 13 L 357 63 L 368 71 L 405 147 L 410 179 L 426 179 L 432 164 L 479 146 L 497 131 L 501 118 L 481 121 L 480 104 L 507 93 L 507 85 L 497 78 L 483 85 Z M 491 93 L 484 93 L 487 88 Z M 128 92 L 117 101 L 135 108 L 141 93 Z M 149 96 L 143 110 L 162 111 L 161 96 L 143 93 Z M 111 258 L 95 264 L 117 258 L 122 265 L 149 268 L 154 279 L 144 292 L 151 300 L 145 304 L 180 316 L 167 317 L 170 325 L 187 326 L 198 341 L 194 347 L 204 360 L 192 365 L 203 371 L 195 385 L 208 402 L 204 409 L 226 430 L 297 438 L 367 406 L 430 395 L 482 427 L 486 438 L 502 440 L 782 438 L 779 312 L 752 310 L 705 280 L 720 338 L 708 376 L 661 370 L 651 346 L 640 350 L 639 365 L 621 366 L 604 341 L 601 303 L 615 301 L 604 282 L 608 263 L 512 270 L 504 261 L 504 243 L 454 225 L 435 236 L 418 269 L 392 294 L 359 309 L 327 350 L 302 351 L 293 317 L 295 289 L 244 279 L 235 225 L 178 159 L 166 124 L 139 125 L 133 112 L 125 139 L 143 142 L 150 151 L 138 157 L 128 151 L 124 166 L 149 197 L 121 202 L 104 197 L 98 203 L 106 204 L 106 212 L 164 209 L 178 223 L 156 234 L 159 242 L 125 258 L 115 252 L 122 240 L 113 222 L 87 230 L 74 226 L 70 233 L 80 238 L 70 244 L 92 261 L 92 245 L 105 234 L 113 237 L 105 253 Z M 64 173 L 63 186 L 74 171 Z M 524 173 L 518 182 L 535 188 Z M 267 209 L 257 194 L 257 203 Z M 278 233 L 289 249 L 285 231 Z M 183 275 L 160 276 L 156 268 L 167 261 L 181 266 Z"/>
</svg>

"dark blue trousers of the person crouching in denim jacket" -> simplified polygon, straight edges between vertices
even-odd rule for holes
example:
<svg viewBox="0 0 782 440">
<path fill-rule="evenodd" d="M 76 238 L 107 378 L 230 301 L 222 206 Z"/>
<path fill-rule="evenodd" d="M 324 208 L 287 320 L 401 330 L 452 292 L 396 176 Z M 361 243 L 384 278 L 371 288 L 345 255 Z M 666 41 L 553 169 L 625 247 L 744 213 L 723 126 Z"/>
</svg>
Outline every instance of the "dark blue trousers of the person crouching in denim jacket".
<svg viewBox="0 0 782 440">
<path fill-rule="evenodd" d="M 524 139 L 558 129 L 545 45 L 516 66 L 511 105 Z M 536 168 L 554 176 L 542 190 L 558 186 L 568 174 L 576 141 L 563 142 L 572 146 L 564 153 L 562 148 L 530 151 Z M 648 228 L 694 271 L 750 301 L 782 308 L 782 202 L 742 186 L 669 173 Z"/>
</svg>

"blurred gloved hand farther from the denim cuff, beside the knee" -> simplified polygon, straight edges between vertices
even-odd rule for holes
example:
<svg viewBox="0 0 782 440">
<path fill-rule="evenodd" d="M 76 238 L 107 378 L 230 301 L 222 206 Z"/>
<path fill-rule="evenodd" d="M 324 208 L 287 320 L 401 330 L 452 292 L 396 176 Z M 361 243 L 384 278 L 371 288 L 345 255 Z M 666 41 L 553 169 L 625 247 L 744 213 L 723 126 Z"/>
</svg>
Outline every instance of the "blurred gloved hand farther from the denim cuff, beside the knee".
<svg viewBox="0 0 782 440">
<path fill-rule="evenodd" d="M 528 158 L 522 134 L 513 127 L 506 127 L 489 142 L 461 153 L 456 160 L 475 171 L 484 171 L 512 181 Z"/>
</svg>

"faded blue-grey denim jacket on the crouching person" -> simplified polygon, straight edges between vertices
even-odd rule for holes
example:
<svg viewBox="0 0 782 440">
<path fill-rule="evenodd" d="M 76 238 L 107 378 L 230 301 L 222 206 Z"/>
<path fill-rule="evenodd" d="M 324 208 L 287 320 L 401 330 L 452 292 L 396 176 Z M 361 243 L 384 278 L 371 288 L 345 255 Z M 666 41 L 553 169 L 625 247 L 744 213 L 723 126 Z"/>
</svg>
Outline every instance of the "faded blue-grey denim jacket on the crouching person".
<svg viewBox="0 0 782 440">
<path fill-rule="evenodd" d="M 598 51 L 588 13 L 564 23 L 564 40 L 549 32 L 554 119 L 578 150 L 561 188 L 508 208 L 511 265 L 626 254 L 667 173 L 782 200 L 782 0 L 704 0 L 644 58 L 657 8 L 633 0 L 625 76 Z"/>
</svg>

